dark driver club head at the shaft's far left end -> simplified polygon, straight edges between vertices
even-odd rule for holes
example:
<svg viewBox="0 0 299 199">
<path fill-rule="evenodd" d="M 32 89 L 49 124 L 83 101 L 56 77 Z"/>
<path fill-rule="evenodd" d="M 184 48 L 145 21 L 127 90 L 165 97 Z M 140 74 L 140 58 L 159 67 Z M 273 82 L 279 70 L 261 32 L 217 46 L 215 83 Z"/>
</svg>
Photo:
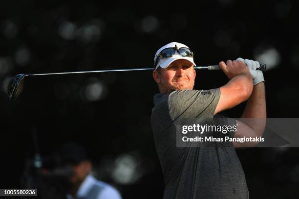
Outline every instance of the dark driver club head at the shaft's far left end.
<svg viewBox="0 0 299 199">
<path fill-rule="evenodd" d="M 9 81 L 7 86 L 9 100 L 16 100 L 21 95 L 25 77 L 25 74 L 19 74 Z"/>
</svg>

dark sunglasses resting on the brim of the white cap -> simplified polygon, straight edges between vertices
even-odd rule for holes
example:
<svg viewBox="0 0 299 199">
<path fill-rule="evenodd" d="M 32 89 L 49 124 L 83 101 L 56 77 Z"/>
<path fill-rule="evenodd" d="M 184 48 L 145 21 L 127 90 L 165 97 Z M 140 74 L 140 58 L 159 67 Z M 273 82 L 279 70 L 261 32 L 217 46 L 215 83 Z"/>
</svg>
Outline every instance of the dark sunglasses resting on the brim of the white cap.
<svg viewBox="0 0 299 199">
<path fill-rule="evenodd" d="M 186 47 L 165 48 L 158 54 L 158 56 L 154 62 L 154 68 L 156 68 L 156 65 L 158 64 L 159 60 L 161 60 L 163 58 L 171 58 L 174 55 L 175 51 L 177 51 L 182 57 L 193 58 L 193 53 L 189 48 L 186 48 Z"/>
</svg>

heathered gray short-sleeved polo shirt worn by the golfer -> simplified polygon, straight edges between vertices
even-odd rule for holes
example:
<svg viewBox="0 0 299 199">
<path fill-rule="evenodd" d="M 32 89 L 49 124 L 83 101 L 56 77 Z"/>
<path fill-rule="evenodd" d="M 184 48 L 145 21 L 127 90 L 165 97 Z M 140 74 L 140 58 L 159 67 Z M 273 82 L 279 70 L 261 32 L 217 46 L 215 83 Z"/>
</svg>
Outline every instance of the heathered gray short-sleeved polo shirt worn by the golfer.
<svg viewBox="0 0 299 199">
<path fill-rule="evenodd" d="M 234 147 L 176 147 L 177 119 L 213 118 L 220 89 L 156 94 L 151 114 L 164 199 L 248 199 Z"/>
</svg>

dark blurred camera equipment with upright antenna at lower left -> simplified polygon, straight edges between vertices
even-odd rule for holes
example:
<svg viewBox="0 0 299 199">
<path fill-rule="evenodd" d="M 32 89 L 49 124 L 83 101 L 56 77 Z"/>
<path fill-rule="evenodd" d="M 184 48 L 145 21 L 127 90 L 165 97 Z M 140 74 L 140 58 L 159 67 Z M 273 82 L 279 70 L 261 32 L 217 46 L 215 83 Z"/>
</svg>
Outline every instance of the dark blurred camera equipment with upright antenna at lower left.
<svg viewBox="0 0 299 199">
<path fill-rule="evenodd" d="M 39 199 L 65 199 L 70 179 L 73 176 L 72 165 L 65 163 L 62 156 L 58 154 L 41 157 L 34 128 L 32 136 L 35 157 L 26 160 L 20 186 L 22 188 L 37 188 Z"/>
</svg>

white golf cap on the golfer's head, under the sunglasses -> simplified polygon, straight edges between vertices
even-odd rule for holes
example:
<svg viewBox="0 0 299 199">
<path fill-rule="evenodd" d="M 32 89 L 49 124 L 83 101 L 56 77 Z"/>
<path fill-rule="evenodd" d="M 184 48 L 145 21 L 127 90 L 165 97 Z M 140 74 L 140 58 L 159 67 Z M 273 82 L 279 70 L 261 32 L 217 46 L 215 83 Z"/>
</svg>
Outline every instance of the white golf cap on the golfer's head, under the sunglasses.
<svg viewBox="0 0 299 199">
<path fill-rule="evenodd" d="M 160 48 L 154 57 L 154 63 L 159 55 L 159 53 L 164 50 L 165 48 L 173 48 L 173 47 L 185 47 L 185 48 L 189 48 L 188 46 L 182 44 L 182 43 L 178 43 L 178 42 L 171 42 L 166 44 L 165 46 L 163 46 L 162 48 Z M 170 57 L 170 58 L 163 58 L 160 59 L 159 62 L 157 63 L 157 65 L 155 66 L 155 70 L 160 66 L 161 68 L 167 68 L 169 66 L 169 64 L 171 64 L 173 61 L 175 60 L 188 60 L 190 61 L 194 66 L 196 66 L 196 64 L 194 63 L 193 58 L 191 57 L 182 57 L 178 52 L 175 52 L 175 54 Z"/>
</svg>

